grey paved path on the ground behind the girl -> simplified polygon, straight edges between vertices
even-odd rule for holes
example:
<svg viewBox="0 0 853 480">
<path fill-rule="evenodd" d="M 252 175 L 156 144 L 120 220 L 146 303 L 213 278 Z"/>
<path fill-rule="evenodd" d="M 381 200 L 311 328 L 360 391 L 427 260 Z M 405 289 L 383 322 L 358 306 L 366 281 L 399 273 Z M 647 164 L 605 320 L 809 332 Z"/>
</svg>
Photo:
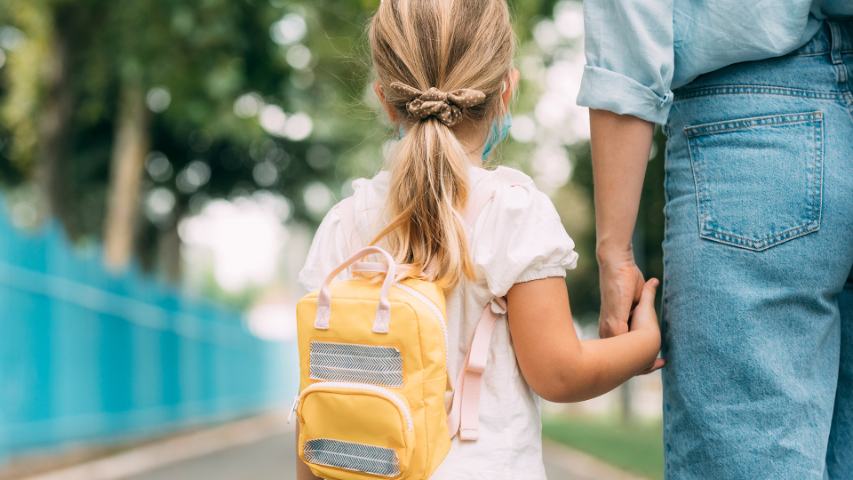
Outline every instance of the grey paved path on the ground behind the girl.
<svg viewBox="0 0 853 480">
<path fill-rule="evenodd" d="M 546 442 L 551 480 L 636 480 L 587 455 Z M 281 480 L 293 478 L 294 435 L 283 414 L 253 417 L 152 442 L 27 480 Z"/>
</svg>

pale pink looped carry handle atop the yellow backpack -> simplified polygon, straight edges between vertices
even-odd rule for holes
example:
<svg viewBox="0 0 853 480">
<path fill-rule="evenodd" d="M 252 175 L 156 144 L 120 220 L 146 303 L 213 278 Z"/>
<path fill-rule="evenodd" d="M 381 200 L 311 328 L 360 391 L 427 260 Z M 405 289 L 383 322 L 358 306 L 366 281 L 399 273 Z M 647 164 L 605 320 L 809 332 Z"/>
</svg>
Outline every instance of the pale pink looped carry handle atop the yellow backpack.
<svg viewBox="0 0 853 480">
<path fill-rule="evenodd" d="M 388 301 L 388 292 L 397 281 L 397 262 L 390 253 L 377 246 L 364 247 L 355 252 L 353 256 L 348 258 L 344 263 L 338 265 L 323 281 L 323 286 L 320 287 L 320 293 L 317 295 L 317 317 L 314 320 L 314 328 L 327 330 L 329 328 L 329 317 L 332 315 L 332 290 L 331 283 L 341 272 L 349 268 L 350 265 L 361 260 L 362 258 L 378 254 L 383 257 L 383 260 L 388 265 L 385 273 L 385 281 L 382 282 L 382 289 L 379 291 L 379 306 L 376 307 L 376 319 L 373 321 L 374 333 L 388 333 L 388 328 L 391 324 L 391 302 Z"/>
</svg>

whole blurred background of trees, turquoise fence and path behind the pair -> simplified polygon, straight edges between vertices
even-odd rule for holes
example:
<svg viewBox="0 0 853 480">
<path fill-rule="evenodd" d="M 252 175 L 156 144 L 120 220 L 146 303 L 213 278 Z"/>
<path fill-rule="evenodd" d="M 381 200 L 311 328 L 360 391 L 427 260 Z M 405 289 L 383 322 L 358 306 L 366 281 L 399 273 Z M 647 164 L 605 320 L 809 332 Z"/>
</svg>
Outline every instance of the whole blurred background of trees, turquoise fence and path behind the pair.
<svg viewBox="0 0 853 480">
<path fill-rule="evenodd" d="M 378 1 L 0 2 L 0 479 L 292 478 L 296 273 L 394 137 Z M 522 78 L 492 162 L 552 196 L 596 336 L 581 4 L 509 3 Z M 635 238 L 655 276 L 661 140 Z M 544 435 L 552 478 L 660 478 L 659 376 L 546 405 Z"/>
</svg>

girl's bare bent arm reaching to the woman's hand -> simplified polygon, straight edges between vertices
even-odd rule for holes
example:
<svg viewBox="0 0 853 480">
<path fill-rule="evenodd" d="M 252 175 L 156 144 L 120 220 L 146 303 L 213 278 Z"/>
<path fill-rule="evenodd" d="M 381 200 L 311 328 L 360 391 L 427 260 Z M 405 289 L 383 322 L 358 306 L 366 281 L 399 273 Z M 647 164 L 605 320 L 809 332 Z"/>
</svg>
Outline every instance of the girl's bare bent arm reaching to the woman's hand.
<svg viewBox="0 0 853 480">
<path fill-rule="evenodd" d="M 657 279 L 645 283 L 630 331 L 607 339 L 578 339 L 562 278 L 514 285 L 507 317 L 515 356 L 528 385 L 552 402 L 601 395 L 629 378 L 663 365 L 655 314 Z"/>
</svg>

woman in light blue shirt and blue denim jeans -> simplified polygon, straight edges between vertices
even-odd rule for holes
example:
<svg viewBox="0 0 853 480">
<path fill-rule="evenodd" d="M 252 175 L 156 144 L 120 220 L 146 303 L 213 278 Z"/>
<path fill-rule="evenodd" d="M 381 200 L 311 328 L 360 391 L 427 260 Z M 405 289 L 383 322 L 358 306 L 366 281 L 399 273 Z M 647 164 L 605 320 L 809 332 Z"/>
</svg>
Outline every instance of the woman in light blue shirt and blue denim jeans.
<svg viewBox="0 0 853 480">
<path fill-rule="evenodd" d="M 853 475 L 853 2 L 590 0 L 602 336 L 667 135 L 668 478 Z M 615 305 L 615 306 L 614 306 Z"/>
</svg>

